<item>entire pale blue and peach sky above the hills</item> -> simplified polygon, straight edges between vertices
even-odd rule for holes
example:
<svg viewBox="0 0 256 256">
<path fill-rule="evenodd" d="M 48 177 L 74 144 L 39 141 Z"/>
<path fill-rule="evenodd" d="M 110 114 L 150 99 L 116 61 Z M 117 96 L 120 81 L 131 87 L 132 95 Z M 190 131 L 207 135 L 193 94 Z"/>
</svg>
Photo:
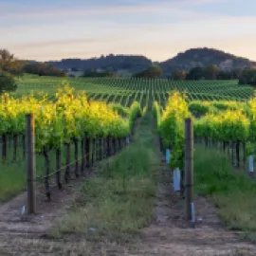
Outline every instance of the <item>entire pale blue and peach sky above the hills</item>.
<svg viewBox="0 0 256 256">
<path fill-rule="evenodd" d="M 256 61 L 256 0 L 0 0 L 0 48 L 49 61 L 173 58 L 214 47 Z"/>
</svg>

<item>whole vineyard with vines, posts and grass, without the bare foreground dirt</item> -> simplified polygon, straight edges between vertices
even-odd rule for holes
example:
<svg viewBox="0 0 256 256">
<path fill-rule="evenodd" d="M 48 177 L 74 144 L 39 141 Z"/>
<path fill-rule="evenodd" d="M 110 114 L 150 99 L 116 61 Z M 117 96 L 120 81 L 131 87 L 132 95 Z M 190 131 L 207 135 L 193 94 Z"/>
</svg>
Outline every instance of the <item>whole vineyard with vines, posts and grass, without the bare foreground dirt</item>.
<svg viewBox="0 0 256 256">
<path fill-rule="evenodd" d="M 194 230 L 205 234 L 212 212 L 203 222 L 195 218 L 209 204 L 200 203 L 198 192 L 212 195 L 230 228 L 254 234 L 251 218 L 244 218 L 256 209 L 252 87 L 236 81 L 34 76 L 17 82 L 17 92 L 0 97 L 0 205 L 14 197 L 3 204 L 11 206 L 0 218 L 4 232 L 12 233 L 17 220 L 24 222 L 25 210 L 37 212 L 35 206 L 44 215 L 31 227 L 38 229 L 45 217 L 52 221 L 50 210 L 64 208 L 64 198 L 80 188 L 50 235 L 134 235 L 153 219 L 156 188 L 164 186 L 156 199 L 158 214 L 163 205 L 171 210 L 159 216 L 159 227 L 171 222 L 171 230 L 177 225 L 184 237 L 186 220 L 189 229 L 197 228 L 188 232 L 191 240 Z M 176 202 L 170 200 L 171 187 Z M 26 190 L 23 201 L 15 197 Z M 27 235 L 26 222 L 21 227 L 17 233 Z"/>
</svg>

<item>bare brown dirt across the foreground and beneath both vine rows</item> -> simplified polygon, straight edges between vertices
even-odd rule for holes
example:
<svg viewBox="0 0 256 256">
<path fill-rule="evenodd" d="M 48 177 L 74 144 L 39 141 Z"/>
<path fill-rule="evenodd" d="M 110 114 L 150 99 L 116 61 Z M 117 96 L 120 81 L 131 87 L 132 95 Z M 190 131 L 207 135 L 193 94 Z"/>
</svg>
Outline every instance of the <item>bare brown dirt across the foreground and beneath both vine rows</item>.
<svg viewBox="0 0 256 256">
<path fill-rule="evenodd" d="M 158 148 L 156 138 L 155 146 Z M 256 246 L 242 242 L 237 233 L 226 229 L 205 198 L 194 198 L 195 228 L 185 222 L 182 199 L 172 190 L 170 167 L 160 154 L 159 157 L 155 217 L 139 237 L 126 244 L 107 239 L 93 241 L 85 235 L 54 241 L 46 239 L 45 234 L 53 220 L 64 213 L 67 201 L 75 194 L 71 187 L 65 191 L 65 196 L 55 193 L 51 206 L 47 208 L 41 201 L 44 214 L 29 219 L 20 214 L 25 194 L 0 206 L 0 255 L 256 255 Z"/>
</svg>

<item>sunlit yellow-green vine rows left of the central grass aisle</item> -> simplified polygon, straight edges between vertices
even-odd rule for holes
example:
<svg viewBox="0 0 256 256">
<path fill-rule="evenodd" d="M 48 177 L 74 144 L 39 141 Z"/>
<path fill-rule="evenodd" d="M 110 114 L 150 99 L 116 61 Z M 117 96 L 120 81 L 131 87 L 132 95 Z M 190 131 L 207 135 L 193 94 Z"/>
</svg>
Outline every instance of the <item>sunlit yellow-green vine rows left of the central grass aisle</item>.
<svg viewBox="0 0 256 256">
<path fill-rule="evenodd" d="M 79 177 L 95 161 L 116 154 L 129 141 L 135 120 L 142 115 L 137 102 L 129 112 L 122 111 L 122 117 L 115 106 L 89 101 L 84 93 L 69 86 L 58 89 L 55 97 L 58 100 L 53 102 L 45 95 L 37 99 L 32 95 L 20 99 L 2 96 L 0 199 L 24 189 L 26 184 L 25 160 L 26 156 L 32 157 L 27 155 L 27 115 L 32 114 L 33 121 L 35 144 L 32 146 L 36 153 L 33 157 L 38 163 L 35 178 L 45 183 L 48 200 L 53 176 L 62 189 L 63 181 L 68 183 L 72 176 Z"/>
</svg>

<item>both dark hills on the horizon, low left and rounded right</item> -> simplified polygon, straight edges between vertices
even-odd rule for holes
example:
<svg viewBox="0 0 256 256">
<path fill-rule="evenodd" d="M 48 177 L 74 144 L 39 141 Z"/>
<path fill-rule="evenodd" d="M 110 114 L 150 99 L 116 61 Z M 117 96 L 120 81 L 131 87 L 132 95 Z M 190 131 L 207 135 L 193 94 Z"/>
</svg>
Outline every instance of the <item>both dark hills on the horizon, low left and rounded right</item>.
<svg viewBox="0 0 256 256">
<path fill-rule="evenodd" d="M 78 70 L 106 70 L 117 72 L 120 76 L 131 76 L 152 66 L 153 61 L 144 56 L 113 55 L 92 59 L 64 59 L 58 62 L 46 62 L 60 69 L 75 68 Z M 176 69 L 190 70 L 195 66 L 217 64 L 222 70 L 231 70 L 255 65 L 248 59 L 234 56 L 213 48 L 192 48 L 179 53 L 173 59 L 159 64 L 163 69 L 163 77 L 170 76 Z"/>
</svg>

